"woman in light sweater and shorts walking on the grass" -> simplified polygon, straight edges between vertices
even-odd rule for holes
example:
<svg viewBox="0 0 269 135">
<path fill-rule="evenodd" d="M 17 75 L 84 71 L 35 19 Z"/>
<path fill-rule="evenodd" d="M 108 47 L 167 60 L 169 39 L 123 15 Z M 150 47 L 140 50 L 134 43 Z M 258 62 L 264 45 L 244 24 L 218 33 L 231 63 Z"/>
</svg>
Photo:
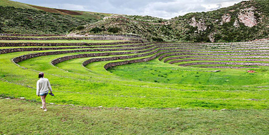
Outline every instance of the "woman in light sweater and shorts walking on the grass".
<svg viewBox="0 0 269 135">
<path fill-rule="evenodd" d="M 37 80 L 36 83 L 36 95 L 41 97 L 42 100 L 42 107 L 41 109 L 44 109 L 44 111 L 47 111 L 47 106 L 46 106 L 46 96 L 48 95 L 48 92 L 52 92 L 51 86 L 49 79 L 44 78 L 44 73 L 40 72 L 38 74 L 39 80 Z"/>
</svg>

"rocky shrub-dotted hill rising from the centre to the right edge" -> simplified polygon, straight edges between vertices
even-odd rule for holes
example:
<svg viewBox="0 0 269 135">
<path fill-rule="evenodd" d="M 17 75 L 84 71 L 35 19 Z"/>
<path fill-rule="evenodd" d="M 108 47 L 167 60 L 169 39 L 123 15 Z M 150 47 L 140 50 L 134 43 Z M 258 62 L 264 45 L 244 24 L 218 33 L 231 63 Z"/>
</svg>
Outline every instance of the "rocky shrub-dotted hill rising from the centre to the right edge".
<svg viewBox="0 0 269 135">
<path fill-rule="evenodd" d="M 247 1 L 211 12 L 189 13 L 170 20 L 134 21 L 126 17 L 110 17 L 77 34 L 137 34 L 153 41 L 234 42 L 268 38 L 269 1 Z M 98 31 L 96 31 L 98 30 Z M 109 31 L 110 30 L 110 31 Z"/>
</svg>

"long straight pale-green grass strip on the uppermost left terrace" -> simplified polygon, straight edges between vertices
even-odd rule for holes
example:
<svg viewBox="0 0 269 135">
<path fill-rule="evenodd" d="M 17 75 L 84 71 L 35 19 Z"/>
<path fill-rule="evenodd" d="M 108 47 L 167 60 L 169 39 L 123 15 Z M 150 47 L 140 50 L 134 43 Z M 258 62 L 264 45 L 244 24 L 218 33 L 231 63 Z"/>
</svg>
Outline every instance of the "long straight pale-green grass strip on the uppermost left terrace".
<svg viewBox="0 0 269 135">
<path fill-rule="evenodd" d="M 0 43 L 113 43 L 125 40 L 0 40 Z"/>
</svg>

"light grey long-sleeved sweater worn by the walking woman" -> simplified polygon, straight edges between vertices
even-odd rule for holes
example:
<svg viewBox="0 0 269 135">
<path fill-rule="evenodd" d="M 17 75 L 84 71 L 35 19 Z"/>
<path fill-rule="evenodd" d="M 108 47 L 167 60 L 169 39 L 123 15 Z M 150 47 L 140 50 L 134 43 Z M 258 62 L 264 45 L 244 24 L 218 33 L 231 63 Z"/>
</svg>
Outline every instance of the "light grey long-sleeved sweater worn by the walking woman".
<svg viewBox="0 0 269 135">
<path fill-rule="evenodd" d="M 37 83 L 36 83 L 36 95 L 48 93 L 49 90 L 50 90 L 50 92 L 52 92 L 49 79 L 40 78 L 39 80 L 37 80 Z"/>
</svg>

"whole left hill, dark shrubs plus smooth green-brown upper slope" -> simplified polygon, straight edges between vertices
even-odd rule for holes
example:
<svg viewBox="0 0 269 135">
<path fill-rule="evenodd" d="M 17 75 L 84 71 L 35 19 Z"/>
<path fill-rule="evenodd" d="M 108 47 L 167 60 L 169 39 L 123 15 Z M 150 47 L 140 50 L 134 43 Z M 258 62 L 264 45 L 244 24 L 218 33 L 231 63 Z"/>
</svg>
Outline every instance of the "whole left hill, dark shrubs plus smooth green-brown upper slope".
<svg viewBox="0 0 269 135">
<path fill-rule="evenodd" d="M 77 26 L 96 22 L 110 14 L 71 11 L 0 1 L 0 32 L 68 34 Z"/>
</svg>

